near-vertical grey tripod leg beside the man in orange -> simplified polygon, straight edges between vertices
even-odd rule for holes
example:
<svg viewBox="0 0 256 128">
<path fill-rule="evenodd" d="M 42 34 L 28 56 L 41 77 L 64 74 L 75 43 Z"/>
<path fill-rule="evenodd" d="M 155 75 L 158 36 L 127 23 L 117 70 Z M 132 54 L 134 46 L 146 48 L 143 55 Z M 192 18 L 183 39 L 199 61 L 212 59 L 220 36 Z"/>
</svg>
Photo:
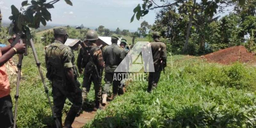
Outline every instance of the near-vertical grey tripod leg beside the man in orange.
<svg viewBox="0 0 256 128">
<path fill-rule="evenodd" d="M 22 44 L 22 40 L 20 40 L 20 44 Z M 23 55 L 19 54 L 19 61 L 18 61 L 18 75 L 17 75 L 17 85 L 16 85 L 16 94 L 15 98 L 15 110 L 14 110 L 14 123 L 13 128 L 16 128 L 16 120 L 17 120 L 17 109 L 18 109 L 18 98 L 19 98 L 19 87 L 20 87 L 20 73 L 21 73 L 21 64 L 22 64 Z"/>
</svg>

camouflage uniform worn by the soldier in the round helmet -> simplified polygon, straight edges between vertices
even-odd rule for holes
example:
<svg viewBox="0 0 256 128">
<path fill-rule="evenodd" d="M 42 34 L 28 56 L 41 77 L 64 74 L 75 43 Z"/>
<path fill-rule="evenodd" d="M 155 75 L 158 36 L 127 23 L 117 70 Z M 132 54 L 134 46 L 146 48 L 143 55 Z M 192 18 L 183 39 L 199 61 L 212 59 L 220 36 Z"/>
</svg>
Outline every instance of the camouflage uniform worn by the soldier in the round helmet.
<svg viewBox="0 0 256 128">
<path fill-rule="evenodd" d="M 92 70 L 92 61 L 90 61 L 90 56 L 92 55 L 93 63 L 97 66 L 98 74 L 100 78 L 97 78 L 95 71 Z M 104 61 L 102 58 L 101 49 L 94 43 L 87 43 L 86 47 L 82 47 L 79 50 L 77 58 L 78 69 L 84 69 L 84 80 L 83 80 L 83 92 L 82 97 L 85 102 L 88 92 L 90 91 L 91 84 L 94 84 L 95 91 L 95 103 L 99 104 L 101 100 L 101 78 L 102 71 L 104 68 Z"/>
</svg>

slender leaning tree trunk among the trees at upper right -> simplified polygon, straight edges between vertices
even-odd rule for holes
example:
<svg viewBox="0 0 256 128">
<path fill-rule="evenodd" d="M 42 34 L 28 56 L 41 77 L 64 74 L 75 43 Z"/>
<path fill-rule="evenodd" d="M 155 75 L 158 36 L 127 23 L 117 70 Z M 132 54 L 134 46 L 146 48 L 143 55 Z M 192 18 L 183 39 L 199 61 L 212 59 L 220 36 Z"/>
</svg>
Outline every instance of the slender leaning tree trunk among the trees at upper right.
<svg viewBox="0 0 256 128">
<path fill-rule="evenodd" d="M 190 35 L 190 29 L 191 29 L 191 24 L 192 24 L 192 18 L 193 18 L 194 11 L 195 11 L 195 6 L 196 6 L 196 0 L 194 0 L 192 11 L 191 11 L 191 15 L 189 16 L 187 35 L 186 35 L 186 42 L 184 44 L 183 53 L 185 53 L 188 50 L 188 38 L 189 38 L 189 35 Z"/>
</svg>

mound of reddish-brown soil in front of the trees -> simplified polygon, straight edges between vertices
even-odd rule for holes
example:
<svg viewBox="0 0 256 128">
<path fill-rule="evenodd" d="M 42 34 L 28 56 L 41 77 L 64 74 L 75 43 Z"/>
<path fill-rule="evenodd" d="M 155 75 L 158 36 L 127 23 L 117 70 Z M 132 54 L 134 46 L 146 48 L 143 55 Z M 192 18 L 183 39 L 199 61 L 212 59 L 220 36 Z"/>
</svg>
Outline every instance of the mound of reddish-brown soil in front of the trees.
<svg viewBox="0 0 256 128">
<path fill-rule="evenodd" d="M 229 47 L 201 57 L 208 62 L 221 64 L 230 64 L 236 61 L 256 63 L 255 54 L 248 52 L 244 46 Z"/>
</svg>

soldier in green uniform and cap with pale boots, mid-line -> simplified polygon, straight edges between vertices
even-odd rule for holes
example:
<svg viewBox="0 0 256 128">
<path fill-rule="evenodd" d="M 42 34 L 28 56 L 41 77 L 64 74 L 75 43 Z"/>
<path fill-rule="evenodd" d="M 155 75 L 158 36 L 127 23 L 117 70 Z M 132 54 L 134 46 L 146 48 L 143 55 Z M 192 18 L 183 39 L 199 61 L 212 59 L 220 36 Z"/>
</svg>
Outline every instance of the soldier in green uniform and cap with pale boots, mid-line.
<svg viewBox="0 0 256 128">
<path fill-rule="evenodd" d="M 117 73 L 114 71 L 116 70 L 117 66 L 121 63 L 124 59 L 123 49 L 117 45 L 118 37 L 112 36 L 111 37 L 111 45 L 105 46 L 103 48 L 103 59 L 105 61 L 105 85 L 102 95 L 102 105 L 106 105 L 108 92 L 111 83 L 113 82 L 113 98 L 116 97 L 118 93 L 118 86 L 120 81 L 114 80 L 114 75 L 117 76 Z"/>
</svg>

